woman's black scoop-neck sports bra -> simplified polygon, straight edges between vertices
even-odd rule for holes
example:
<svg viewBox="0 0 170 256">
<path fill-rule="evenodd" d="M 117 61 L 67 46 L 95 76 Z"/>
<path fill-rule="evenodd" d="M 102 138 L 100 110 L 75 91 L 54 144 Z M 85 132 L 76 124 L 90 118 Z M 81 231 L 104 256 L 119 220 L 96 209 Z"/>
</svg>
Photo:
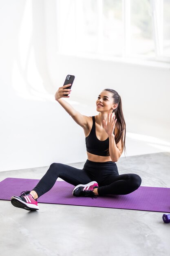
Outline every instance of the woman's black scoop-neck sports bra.
<svg viewBox="0 0 170 256">
<path fill-rule="evenodd" d="M 87 152 L 94 155 L 108 156 L 109 139 L 104 141 L 97 139 L 95 128 L 95 117 L 93 119 L 93 126 L 90 134 L 86 137 L 86 149 Z"/>
</svg>

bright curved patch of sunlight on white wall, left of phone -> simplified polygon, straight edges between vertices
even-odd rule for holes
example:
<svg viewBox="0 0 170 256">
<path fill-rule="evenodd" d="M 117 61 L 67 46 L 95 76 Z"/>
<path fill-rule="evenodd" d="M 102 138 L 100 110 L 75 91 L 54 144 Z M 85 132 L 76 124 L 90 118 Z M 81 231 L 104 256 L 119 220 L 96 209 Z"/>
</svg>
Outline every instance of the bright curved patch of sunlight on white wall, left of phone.
<svg viewBox="0 0 170 256">
<path fill-rule="evenodd" d="M 33 45 L 33 6 L 27 0 L 18 36 L 18 54 L 13 63 L 11 83 L 18 96 L 23 99 L 53 101 L 53 95 L 47 93 L 43 86 L 35 60 Z"/>
</svg>

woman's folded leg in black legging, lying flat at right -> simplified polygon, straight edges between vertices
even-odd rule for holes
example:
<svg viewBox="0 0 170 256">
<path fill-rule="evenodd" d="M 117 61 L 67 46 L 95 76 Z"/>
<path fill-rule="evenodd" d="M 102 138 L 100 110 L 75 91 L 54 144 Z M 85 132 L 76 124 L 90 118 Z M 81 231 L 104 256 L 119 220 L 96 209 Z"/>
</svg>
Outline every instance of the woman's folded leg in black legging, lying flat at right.
<svg viewBox="0 0 170 256">
<path fill-rule="evenodd" d="M 138 189 L 140 185 L 141 177 L 137 174 L 110 175 L 94 192 L 98 195 L 126 195 Z"/>
</svg>

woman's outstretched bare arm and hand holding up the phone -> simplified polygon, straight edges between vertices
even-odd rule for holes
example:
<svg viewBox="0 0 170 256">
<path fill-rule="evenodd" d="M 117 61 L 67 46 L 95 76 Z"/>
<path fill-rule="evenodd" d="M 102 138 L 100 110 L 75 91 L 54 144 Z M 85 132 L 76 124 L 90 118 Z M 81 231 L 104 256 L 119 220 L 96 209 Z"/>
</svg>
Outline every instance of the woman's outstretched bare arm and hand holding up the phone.
<svg viewBox="0 0 170 256">
<path fill-rule="evenodd" d="M 79 125 L 82 126 L 82 128 L 87 127 L 88 118 L 82 114 L 80 114 L 77 110 L 75 110 L 71 104 L 64 101 L 64 99 L 61 98 L 69 98 L 69 96 L 65 96 L 65 94 L 70 94 L 71 90 L 66 89 L 69 85 L 64 85 L 60 87 L 57 92 L 55 93 L 55 100 L 60 103 L 60 105 L 66 110 L 66 112 L 73 118 L 73 120 Z"/>
</svg>

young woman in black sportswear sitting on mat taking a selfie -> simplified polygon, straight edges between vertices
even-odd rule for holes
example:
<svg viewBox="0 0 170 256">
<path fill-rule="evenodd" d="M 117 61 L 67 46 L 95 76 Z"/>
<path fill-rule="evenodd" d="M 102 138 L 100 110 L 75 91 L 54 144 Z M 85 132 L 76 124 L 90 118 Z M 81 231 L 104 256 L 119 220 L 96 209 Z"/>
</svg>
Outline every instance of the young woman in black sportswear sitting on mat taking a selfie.
<svg viewBox="0 0 170 256">
<path fill-rule="evenodd" d="M 92 198 L 98 195 L 126 195 L 141 185 L 141 178 L 137 174 L 119 175 L 115 163 L 126 149 L 126 123 L 119 94 L 112 89 L 103 90 L 96 101 L 99 114 L 87 117 L 62 99 L 68 98 L 71 93 L 68 86 L 64 85 L 57 90 L 55 100 L 84 130 L 86 163 L 82 170 L 66 164 L 51 164 L 32 191 L 24 191 L 20 196 L 11 198 L 15 207 L 29 211 L 38 210 L 37 199 L 53 187 L 58 177 L 75 186 L 73 196 Z"/>
</svg>

